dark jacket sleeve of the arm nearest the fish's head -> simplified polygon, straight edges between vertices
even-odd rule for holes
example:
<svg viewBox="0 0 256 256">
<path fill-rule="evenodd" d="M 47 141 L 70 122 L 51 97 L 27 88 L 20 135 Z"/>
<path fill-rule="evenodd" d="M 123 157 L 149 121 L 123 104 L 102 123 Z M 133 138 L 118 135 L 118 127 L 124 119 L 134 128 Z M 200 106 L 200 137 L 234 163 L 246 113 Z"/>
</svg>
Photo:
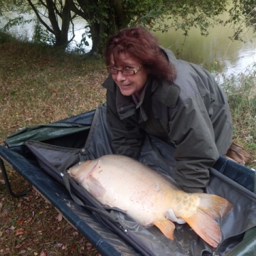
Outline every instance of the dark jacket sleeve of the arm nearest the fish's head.
<svg viewBox="0 0 256 256">
<path fill-rule="evenodd" d="M 112 132 L 112 146 L 116 154 L 137 159 L 142 147 L 143 133 L 132 117 L 125 120 L 119 118 L 115 94 L 110 91 L 107 91 L 107 124 Z"/>
</svg>

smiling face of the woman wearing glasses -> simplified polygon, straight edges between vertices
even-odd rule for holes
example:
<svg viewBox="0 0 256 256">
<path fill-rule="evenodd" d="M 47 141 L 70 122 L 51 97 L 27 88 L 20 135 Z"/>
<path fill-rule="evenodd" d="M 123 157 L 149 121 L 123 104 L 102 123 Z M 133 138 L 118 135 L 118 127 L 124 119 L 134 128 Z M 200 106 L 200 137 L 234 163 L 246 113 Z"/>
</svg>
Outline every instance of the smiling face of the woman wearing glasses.
<svg viewBox="0 0 256 256">
<path fill-rule="evenodd" d="M 110 56 L 110 67 L 115 68 L 117 70 L 123 69 L 135 69 L 138 68 L 142 63 L 139 63 L 136 59 L 129 57 L 129 55 L 125 53 L 121 53 L 119 55 L 119 60 L 122 65 L 117 66 L 114 63 L 113 55 Z M 146 69 L 142 66 L 142 68 L 134 75 L 123 75 L 122 72 L 118 72 L 116 75 L 112 74 L 112 78 L 114 82 L 119 87 L 122 95 L 130 96 L 132 94 L 136 95 L 139 99 L 139 96 L 142 92 L 144 85 L 146 84 L 146 79 L 148 77 L 148 73 Z"/>
</svg>

